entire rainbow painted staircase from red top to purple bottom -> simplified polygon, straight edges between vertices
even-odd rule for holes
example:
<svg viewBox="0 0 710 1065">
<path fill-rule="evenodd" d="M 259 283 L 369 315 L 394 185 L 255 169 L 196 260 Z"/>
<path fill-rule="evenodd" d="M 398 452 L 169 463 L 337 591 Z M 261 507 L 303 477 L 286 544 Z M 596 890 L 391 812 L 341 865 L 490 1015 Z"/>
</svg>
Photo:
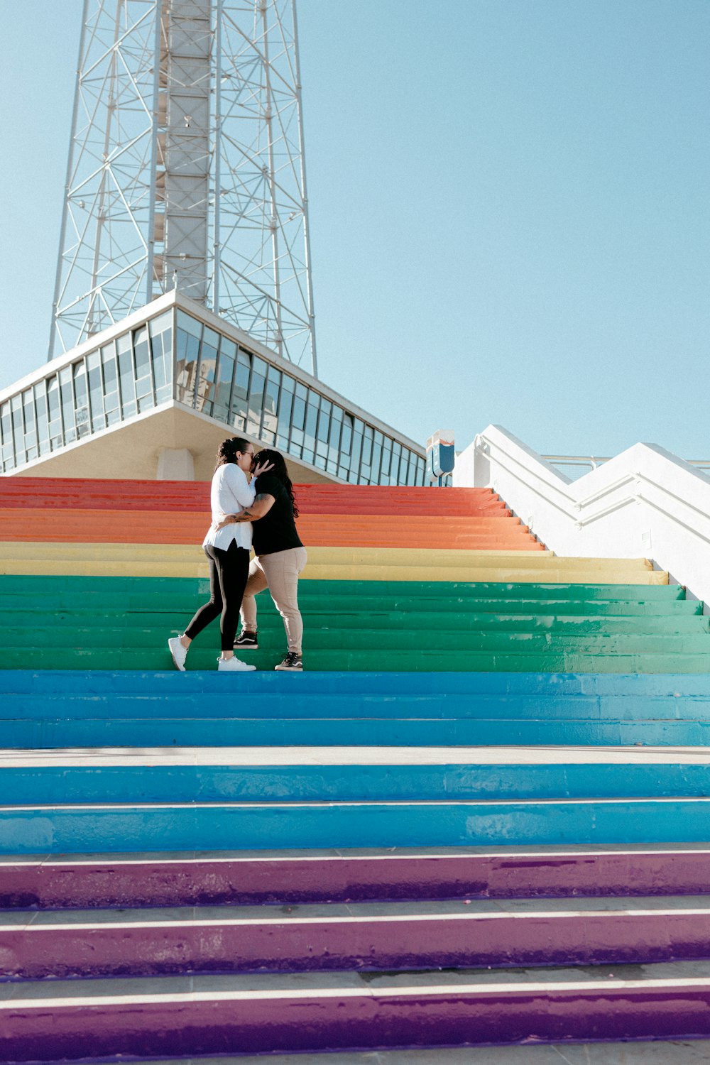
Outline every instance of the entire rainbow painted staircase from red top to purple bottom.
<svg viewBox="0 0 710 1065">
<path fill-rule="evenodd" d="M 301 486 L 307 671 L 266 595 L 258 672 L 213 629 L 183 674 L 207 486 L 0 499 L 0 1060 L 710 1035 L 710 632 L 667 574 L 488 490 Z"/>
</svg>

